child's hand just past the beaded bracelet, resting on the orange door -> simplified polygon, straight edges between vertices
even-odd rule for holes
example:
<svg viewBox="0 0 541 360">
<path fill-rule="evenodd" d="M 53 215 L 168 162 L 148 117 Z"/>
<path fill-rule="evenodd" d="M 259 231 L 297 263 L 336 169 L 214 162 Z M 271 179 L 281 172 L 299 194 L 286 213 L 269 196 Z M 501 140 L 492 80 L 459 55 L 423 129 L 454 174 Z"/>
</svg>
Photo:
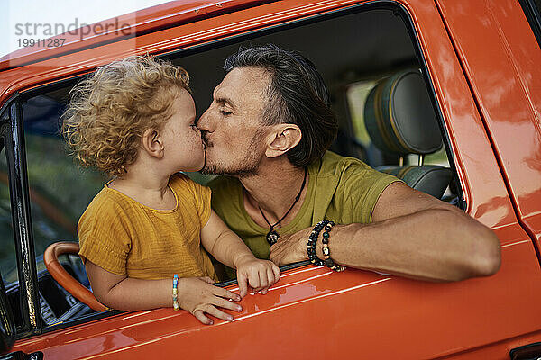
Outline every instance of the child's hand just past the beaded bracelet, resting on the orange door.
<svg viewBox="0 0 541 360">
<path fill-rule="evenodd" d="M 230 302 L 228 299 L 238 302 L 241 297 L 236 293 L 224 288 L 212 285 L 214 281 L 206 277 L 183 277 L 179 279 L 179 306 L 191 312 L 197 320 L 203 324 L 212 325 L 213 320 L 205 316 L 205 313 L 218 319 L 231 321 L 233 316 L 216 309 L 221 307 L 233 311 L 243 311 L 241 305 Z"/>
</svg>

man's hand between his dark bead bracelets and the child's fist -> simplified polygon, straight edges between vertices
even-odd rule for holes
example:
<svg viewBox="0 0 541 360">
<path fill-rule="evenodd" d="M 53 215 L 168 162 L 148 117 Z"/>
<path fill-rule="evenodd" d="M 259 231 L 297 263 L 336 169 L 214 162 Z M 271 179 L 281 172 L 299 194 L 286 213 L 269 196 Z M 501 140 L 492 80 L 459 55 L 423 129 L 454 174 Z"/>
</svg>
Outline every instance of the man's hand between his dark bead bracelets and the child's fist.
<svg viewBox="0 0 541 360">
<path fill-rule="evenodd" d="M 269 258 L 278 266 L 307 260 L 307 243 L 310 232 L 312 232 L 312 228 L 302 229 L 290 235 L 280 235 L 278 242 L 271 246 Z"/>
</svg>

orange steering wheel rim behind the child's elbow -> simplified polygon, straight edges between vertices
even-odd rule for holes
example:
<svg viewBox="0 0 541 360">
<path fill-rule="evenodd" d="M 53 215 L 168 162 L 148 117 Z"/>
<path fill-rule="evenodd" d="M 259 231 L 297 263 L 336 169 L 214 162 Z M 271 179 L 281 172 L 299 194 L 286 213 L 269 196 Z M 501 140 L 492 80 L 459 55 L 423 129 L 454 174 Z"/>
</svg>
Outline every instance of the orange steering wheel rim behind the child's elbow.
<svg viewBox="0 0 541 360">
<path fill-rule="evenodd" d="M 80 284 L 73 276 L 60 265 L 59 257 L 62 254 L 78 254 L 77 242 L 60 241 L 50 244 L 43 253 L 43 263 L 49 274 L 69 293 L 75 296 L 79 302 L 83 302 L 94 311 L 106 311 L 108 308 L 98 302 L 94 294 Z"/>
</svg>

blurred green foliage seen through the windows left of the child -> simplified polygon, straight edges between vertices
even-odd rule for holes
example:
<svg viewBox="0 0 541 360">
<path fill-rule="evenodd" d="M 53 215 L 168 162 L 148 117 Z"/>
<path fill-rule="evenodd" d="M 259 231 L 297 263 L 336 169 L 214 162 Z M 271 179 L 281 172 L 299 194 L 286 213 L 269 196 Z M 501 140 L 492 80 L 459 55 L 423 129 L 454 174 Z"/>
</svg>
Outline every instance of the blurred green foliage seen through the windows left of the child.
<svg viewBox="0 0 541 360">
<path fill-rule="evenodd" d="M 60 138 L 26 135 L 25 141 L 32 235 L 35 254 L 40 256 L 53 242 L 77 240 L 78 218 L 106 178 L 95 170 L 78 166 Z M 0 158 L 0 171 L 7 175 L 5 155 Z M 0 184 L 0 241 L 0 271 L 5 283 L 9 283 L 16 280 L 16 271 L 10 271 L 16 262 L 6 184 Z"/>
</svg>

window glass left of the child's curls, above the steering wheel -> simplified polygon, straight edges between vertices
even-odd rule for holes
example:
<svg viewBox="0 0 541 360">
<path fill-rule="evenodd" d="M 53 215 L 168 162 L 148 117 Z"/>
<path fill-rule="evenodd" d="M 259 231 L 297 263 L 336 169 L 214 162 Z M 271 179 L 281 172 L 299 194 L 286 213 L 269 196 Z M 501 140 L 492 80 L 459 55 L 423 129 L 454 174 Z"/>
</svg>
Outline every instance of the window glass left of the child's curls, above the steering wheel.
<svg viewBox="0 0 541 360">
<path fill-rule="evenodd" d="M 24 141 L 30 187 L 34 250 L 41 255 L 53 242 L 77 241 L 78 218 L 105 183 L 100 173 L 78 166 L 60 134 L 65 91 L 23 103 Z"/>
</svg>

